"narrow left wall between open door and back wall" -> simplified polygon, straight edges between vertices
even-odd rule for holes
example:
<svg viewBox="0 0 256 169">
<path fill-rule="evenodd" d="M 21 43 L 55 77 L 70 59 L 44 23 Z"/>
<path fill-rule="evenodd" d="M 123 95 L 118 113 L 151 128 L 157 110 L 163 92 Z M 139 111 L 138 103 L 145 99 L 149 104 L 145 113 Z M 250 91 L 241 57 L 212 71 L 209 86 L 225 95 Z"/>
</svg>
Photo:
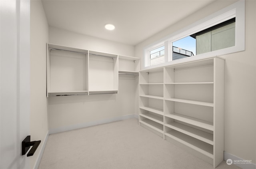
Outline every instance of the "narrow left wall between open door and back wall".
<svg viewBox="0 0 256 169">
<path fill-rule="evenodd" d="M 46 99 L 46 43 L 48 22 L 41 1 L 30 4 L 30 134 L 31 140 L 41 140 L 37 151 L 30 158 L 34 168 L 48 134 Z"/>
</svg>

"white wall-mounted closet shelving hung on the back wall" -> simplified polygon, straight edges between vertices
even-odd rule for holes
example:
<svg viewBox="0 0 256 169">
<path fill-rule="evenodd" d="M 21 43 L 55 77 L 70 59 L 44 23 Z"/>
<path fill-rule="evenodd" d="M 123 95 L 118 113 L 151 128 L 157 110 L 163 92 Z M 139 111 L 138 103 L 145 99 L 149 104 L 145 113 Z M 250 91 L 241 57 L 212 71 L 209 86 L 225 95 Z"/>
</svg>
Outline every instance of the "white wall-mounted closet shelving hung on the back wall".
<svg viewBox="0 0 256 169">
<path fill-rule="evenodd" d="M 47 97 L 118 93 L 118 73 L 139 70 L 139 58 L 47 44 Z"/>
</svg>

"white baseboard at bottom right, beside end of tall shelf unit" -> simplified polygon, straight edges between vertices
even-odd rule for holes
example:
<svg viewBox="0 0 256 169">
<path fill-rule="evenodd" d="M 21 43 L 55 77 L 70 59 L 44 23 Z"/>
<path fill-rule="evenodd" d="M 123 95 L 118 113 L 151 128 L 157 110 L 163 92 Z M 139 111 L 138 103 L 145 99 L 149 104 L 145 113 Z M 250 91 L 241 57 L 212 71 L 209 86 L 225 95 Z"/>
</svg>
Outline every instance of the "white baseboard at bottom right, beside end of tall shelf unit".
<svg viewBox="0 0 256 169">
<path fill-rule="evenodd" d="M 244 162 L 244 159 L 241 159 L 239 157 L 236 157 L 232 154 L 227 153 L 226 151 L 224 151 L 224 160 L 227 161 L 228 159 L 232 159 L 232 164 L 231 165 L 236 165 L 242 169 L 256 169 L 256 165 L 253 163 L 246 163 L 246 161 Z M 239 160 L 236 162 L 236 160 Z M 252 159 L 246 159 L 248 161 L 252 160 Z M 243 163 L 244 162 L 244 163 Z"/>
</svg>

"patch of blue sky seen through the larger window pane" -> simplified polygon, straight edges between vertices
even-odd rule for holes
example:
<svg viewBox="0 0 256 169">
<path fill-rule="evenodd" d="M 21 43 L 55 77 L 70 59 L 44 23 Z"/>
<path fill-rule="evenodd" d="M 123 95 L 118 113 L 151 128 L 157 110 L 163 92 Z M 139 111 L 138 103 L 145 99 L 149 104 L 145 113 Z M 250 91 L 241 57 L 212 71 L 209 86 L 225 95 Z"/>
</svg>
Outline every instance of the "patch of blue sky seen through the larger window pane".
<svg viewBox="0 0 256 169">
<path fill-rule="evenodd" d="M 196 55 L 196 39 L 192 38 L 191 36 L 187 36 L 185 38 L 172 42 L 172 46 L 188 50 Z"/>
</svg>

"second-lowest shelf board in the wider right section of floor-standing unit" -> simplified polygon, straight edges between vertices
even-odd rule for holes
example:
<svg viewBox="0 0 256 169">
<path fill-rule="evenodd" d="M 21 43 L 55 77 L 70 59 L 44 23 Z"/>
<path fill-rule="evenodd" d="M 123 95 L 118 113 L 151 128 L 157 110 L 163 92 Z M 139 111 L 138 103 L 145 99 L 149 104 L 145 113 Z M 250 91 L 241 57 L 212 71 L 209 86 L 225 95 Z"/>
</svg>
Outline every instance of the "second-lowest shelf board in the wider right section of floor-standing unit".
<svg viewBox="0 0 256 169">
<path fill-rule="evenodd" d="M 213 134 L 206 133 L 204 131 L 174 121 L 172 123 L 165 124 L 165 126 L 213 145 Z"/>
</svg>

